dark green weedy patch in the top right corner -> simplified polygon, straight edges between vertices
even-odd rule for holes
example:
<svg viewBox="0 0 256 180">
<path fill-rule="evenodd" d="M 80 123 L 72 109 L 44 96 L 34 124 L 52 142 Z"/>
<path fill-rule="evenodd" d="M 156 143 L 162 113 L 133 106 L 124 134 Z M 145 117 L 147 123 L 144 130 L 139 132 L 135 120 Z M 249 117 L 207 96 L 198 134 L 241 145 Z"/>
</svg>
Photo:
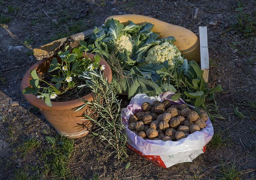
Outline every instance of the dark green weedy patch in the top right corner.
<svg viewBox="0 0 256 180">
<path fill-rule="evenodd" d="M 252 14 L 244 12 L 242 4 L 238 3 L 235 11 L 237 23 L 233 24 L 234 29 L 237 32 L 242 32 L 245 37 L 256 34 L 256 14 L 255 11 Z"/>
</svg>

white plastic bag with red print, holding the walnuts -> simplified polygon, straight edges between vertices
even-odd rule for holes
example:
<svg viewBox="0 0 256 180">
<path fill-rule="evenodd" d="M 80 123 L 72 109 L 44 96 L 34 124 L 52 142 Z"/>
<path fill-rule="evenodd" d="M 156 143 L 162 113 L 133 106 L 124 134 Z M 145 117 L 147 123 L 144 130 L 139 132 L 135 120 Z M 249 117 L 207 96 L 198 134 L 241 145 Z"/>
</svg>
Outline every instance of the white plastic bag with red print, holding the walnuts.
<svg viewBox="0 0 256 180">
<path fill-rule="evenodd" d="M 181 162 L 192 162 L 198 155 L 204 153 L 205 145 L 212 139 L 213 127 L 210 119 L 206 121 L 206 127 L 201 131 L 189 134 L 187 138 L 178 141 L 144 140 L 130 129 L 128 120 L 132 114 L 141 111 L 141 104 L 152 103 L 156 100 L 170 100 L 171 104 L 185 104 L 180 98 L 172 101 L 173 92 L 165 92 L 156 97 L 148 97 L 146 94 L 137 94 L 131 99 L 130 104 L 124 109 L 123 123 L 126 125 L 125 133 L 128 138 L 128 148 L 163 168 L 168 168 Z"/>
</svg>

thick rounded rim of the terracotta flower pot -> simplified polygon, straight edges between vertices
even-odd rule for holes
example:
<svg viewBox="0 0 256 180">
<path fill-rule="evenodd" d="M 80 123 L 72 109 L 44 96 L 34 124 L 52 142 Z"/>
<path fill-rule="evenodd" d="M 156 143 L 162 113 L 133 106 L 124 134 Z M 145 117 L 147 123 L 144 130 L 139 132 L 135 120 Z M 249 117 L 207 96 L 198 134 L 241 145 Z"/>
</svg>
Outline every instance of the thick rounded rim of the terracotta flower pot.
<svg viewBox="0 0 256 180">
<path fill-rule="evenodd" d="M 88 57 L 90 57 L 91 59 L 95 56 L 95 54 L 90 54 L 90 53 L 86 53 L 86 55 Z M 84 53 L 84 56 L 85 56 L 85 53 Z M 36 69 L 39 65 L 41 65 L 43 62 L 45 62 L 49 59 L 50 58 L 48 58 L 46 60 L 38 61 L 27 70 L 27 72 L 25 73 L 25 75 L 23 76 L 22 81 L 21 81 L 21 86 L 20 86 L 21 93 L 22 93 L 23 89 L 30 86 L 29 80 L 32 79 L 30 76 L 31 70 Z M 112 81 L 112 71 L 111 71 L 111 68 L 109 67 L 108 63 L 104 59 L 100 58 L 100 65 L 105 65 L 105 69 L 103 70 L 104 77 L 107 77 L 108 82 L 111 82 Z M 84 104 L 80 99 L 87 99 L 88 101 L 91 101 L 93 98 L 93 96 L 92 96 L 93 94 L 91 92 L 83 97 L 80 97 L 79 99 L 74 99 L 74 100 L 65 101 L 65 102 L 52 102 L 52 107 L 49 107 L 44 103 L 44 100 L 37 98 L 36 95 L 23 94 L 23 93 L 22 93 L 22 95 L 23 95 L 23 97 L 25 97 L 25 99 L 30 104 L 32 104 L 38 108 L 41 108 L 41 109 L 52 110 L 52 111 L 75 109 L 76 107 L 79 107 L 82 104 Z"/>
</svg>

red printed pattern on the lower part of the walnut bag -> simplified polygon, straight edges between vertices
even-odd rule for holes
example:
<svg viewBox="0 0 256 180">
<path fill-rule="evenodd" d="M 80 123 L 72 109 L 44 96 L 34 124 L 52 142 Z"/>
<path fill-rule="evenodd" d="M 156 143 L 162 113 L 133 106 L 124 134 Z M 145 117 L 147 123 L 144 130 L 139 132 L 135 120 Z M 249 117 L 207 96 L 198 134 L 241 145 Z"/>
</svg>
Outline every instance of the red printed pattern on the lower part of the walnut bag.
<svg viewBox="0 0 256 180">
<path fill-rule="evenodd" d="M 127 147 L 129 149 L 131 149 L 133 152 L 135 152 L 136 154 L 144 157 L 145 159 L 147 159 L 148 161 L 156 164 L 157 166 L 166 168 L 164 162 L 162 161 L 160 156 L 156 156 L 156 155 L 144 155 L 143 153 L 141 153 L 140 151 L 138 151 L 137 149 L 133 148 L 130 144 L 127 145 Z M 206 150 L 206 146 L 204 146 L 204 148 L 202 149 L 204 152 Z"/>
</svg>

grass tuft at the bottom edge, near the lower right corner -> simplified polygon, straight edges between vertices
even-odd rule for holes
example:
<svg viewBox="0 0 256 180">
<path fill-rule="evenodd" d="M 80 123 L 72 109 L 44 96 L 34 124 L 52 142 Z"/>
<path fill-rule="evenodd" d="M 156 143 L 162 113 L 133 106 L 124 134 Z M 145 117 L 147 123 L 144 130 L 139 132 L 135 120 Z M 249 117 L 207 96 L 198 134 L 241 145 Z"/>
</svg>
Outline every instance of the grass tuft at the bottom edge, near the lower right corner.
<svg viewBox="0 0 256 180">
<path fill-rule="evenodd" d="M 219 170 L 220 177 L 218 179 L 223 180 L 239 180 L 239 175 L 241 174 L 241 171 L 236 169 L 236 162 L 230 162 L 228 164 L 227 162 L 223 162 L 221 160 L 221 168 Z"/>
</svg>

